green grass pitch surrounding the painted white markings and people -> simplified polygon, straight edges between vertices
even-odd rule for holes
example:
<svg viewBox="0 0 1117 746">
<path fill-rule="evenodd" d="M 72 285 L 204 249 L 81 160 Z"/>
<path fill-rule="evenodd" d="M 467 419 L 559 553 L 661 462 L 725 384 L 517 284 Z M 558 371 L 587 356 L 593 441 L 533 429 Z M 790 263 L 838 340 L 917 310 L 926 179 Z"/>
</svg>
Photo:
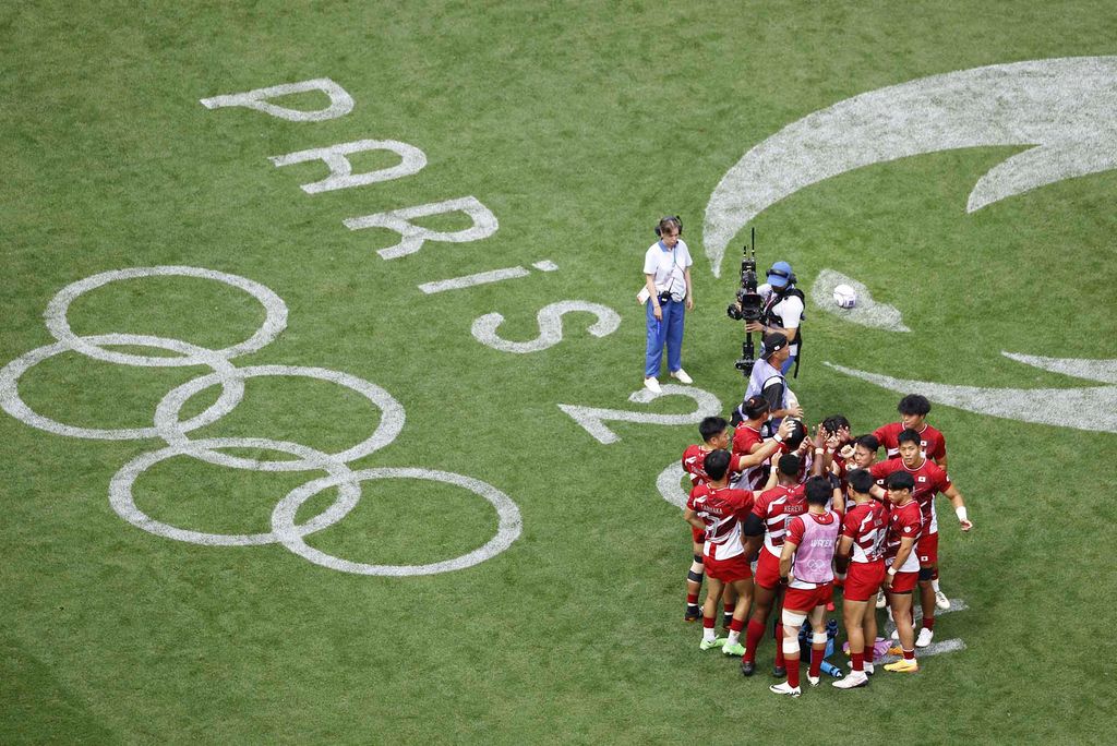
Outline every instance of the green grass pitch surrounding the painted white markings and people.
<svg viewBox="0 0 1117 746">
<path fill-rule="evenodd" d="M 726 412 L 736 403 L 739 327 L 724 309 L 745 232 L 715 278 L 703 217 L 754 145 L 885 86 L 1115 55 L 1115 28 L 1113 3 L 1077 0 L 0 8 L 0 366 L 55 343 L 44 312 L 84 278 L 163 265 L 237 275 L 273 290 L 288 315 L 233 366 L 326 369 L 382 388 L 405 412 L 402 429 L 352 469 L 470 477 L 507 495 L 523 526 L 479 564 L 403 577 L 337 572 L 277 544 L 172 541 L 109 503 L 114 475 L 161 439 L 66 437 L 0 413 L 0 743 L 779 742 L 794 728 L 811 743 L 1111 743 L 1114 432 L 1077 413 L 1071 428 L 936 405 L 930 421 L 947 436 L 951 475 L 976 524 L 964 536 L 941 503 L 943 589 L 970 609 L 944 615 L 936 637 L 965 650 L 927 658 L 914 677 L 784 701 L 767 691 L 771 641 L 762 675 L 743 679 L 736 659 L 700 653 L 700 631 L 681 621 L 689 539 L 656 478 L 697 428 L 612 422 L 619 440 L 602 444 L 557 404 L 694 410 L 679 396 L 628 402 L 645 335 L 632 296 L 651 228 L 669 213 L 682 216 L 696 259 L 684 363 Z M 199 103 L 323 77 L 352 96 L 351 113 L 290 122 Z M 325 96 L 276 103 L 311 111 Z M 1049 112 L 1052 122 L 1066 115 Z M 299 185 L 325 178 L 322 162 L 268 160 L 359 140 L 408 143 L 427 165 L 307 194 Z M 868 329 L 809 307 L 795 383 L 809 419 L 844 412 L 859 432 L 895 419 L 898 394 L 827 361 L 1059 389 L 1089 384 L 1001 351 L 1117 356 L 1117 172 L 966 212 L 981 175 L 1025 144 L 855 170 L 751 223 L 762 266 L 790 260 L 804 289 L 824 268 L 855 277 L 911 328 Z M 398 160 L 352 156 L 355 173 Z M 499 221 L 494 235 L 428 241 L 397 259 L 376 251 L 398 233 L 342 222 L 468 195 Z M 460 213 L 420 222 L 469 227 Z M 558 269 L 531 269 L 542 260 Z M 527 276 L 418 288 L 517 266 Z M 599 338 L 586 333 L 591 316 L 569 315 L 561 343 L 528 354 L 470 333 L 499 313 L 500 337 L 529 341 L 541 308 L 575 299 L 614 309 L 619 328 Z M 227 285 L 168 276 L 94 289 L 68 318 L 79 335 L 218 350 L 250 337 L 265 313 Z M 151 428 L 168 392 L 209 372 L 59 352 L 22 375 L 19 394 L 68 425 Z M 181 418 L 219 392 L 191 396 Z M 334 453 L 381 420 L 349 388 L 254 377 L 233 411 L 190 438 Z M 259 534 L 284 496 L 322 476 L 180 455 L 140 475 L 134 497 L 173 526 Z M 366 481 L 362 496 L 307 543 L 355 563 L 423 565 L 472 552 L 498 529 L 488 503 L 448 484 Z M 298 523 L 335 497 L 312 497 Z"/>
</svg>

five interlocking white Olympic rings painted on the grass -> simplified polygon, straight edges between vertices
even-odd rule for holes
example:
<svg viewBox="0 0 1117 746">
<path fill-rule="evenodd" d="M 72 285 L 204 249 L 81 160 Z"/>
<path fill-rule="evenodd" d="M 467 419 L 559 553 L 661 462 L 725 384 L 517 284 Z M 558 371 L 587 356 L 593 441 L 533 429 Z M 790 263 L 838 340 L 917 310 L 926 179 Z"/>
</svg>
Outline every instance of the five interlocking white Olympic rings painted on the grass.
<svg viewBox="0 0 1117 746">
<path fill-rule="evenodd" d="M 95 334 L 79 336 L 74 333 L 67 317 L 70 305 L 84 293 L 109 283 L 155 276 L 197 277 L 217 280 L 240 288 L 256 298 L 265 309 L 264 324 L 246 341 L 223 350 L 208 350 L 198 345 L 141 334 Z M 45 313 L 47 329 L 57 339 L 21 355 L 0 369 L 0 408 L 21 422 L 59 436 L 90 440 L 144 440 L 161 438 L 166 447 L 142 453 L 127 463 L 109 482 L 109 504 L 130 524 L 156 536 L 207 546 L 257 546 L 283 544 L 293 553 L 324 567 L 362 575 L 429 575 L 461 570 L 508 548 L 519 536 L 522 522 L 516 504 L 504 492 L 484 481 L 447 471 L 420 468 L 383 468 L 353 471 L 349 463 L 384 448 L 395 440 L 403 429 L 403 407 L 385 390 L 349 373 L 322 367 L 296 365 L 255 365 L 235 367 L 230 361 L 246 353 L 256 352 L 274 341 L 286 328 L 287 306 L 283 298 L 259 283 L 197 267 L 137 267 L 101 272 L 63 288 L 48 304 Z M 168 355 L 136 355 L 106 347 L 155 347 L 178 353 Z M 20 377 L 45 360 L 66 352 L 77 352 L 88 357 L 120 365 L 139 367 L 170 367 L 204 365 L 212 372 L 174 388 L 155 408 L 154 425 L 144 428 L 98 429 L 82 428 L 58 422 L 31 410 L 19 395 Z M 217 422 L 229 414 L 245 396 L 245 381 L 257 376 L 300 376 L 317 379 L 345 386 L 367 399 L 380 410 L 380 422 L 369 437 L 340 453 L 324 453 L 298 443 L 266 438 L 208 438 L 190 440 L 188 433 Z M 221 393 L 204 411 L 189 420 L 180 421 L 185 403 L 199 392 L 220 386 Z M 222 452 L 230 448 L 255 448 L 280 451 L 294 459 L 257 460 Z M 271 532 L 260 534 L 212 534 L 179 528 L 145 514 L 133 494 L 135 481 L 152 466 L 170 458 L 185 456 L 217 466 L 254 471 L 325 471 L 326 476 L 297 487 L 275 507 Z M 361 482 L 373 479 L 423 479 L 462 487 L 487 500 L 497 513 L 496 535 L 483 546 L 459 557 L 423 565 L 373 565 L 352 562 L 328 555 L 311 547 L 305 537 L 333 526 L 345 518 L 361 499 Z M 336 499 L 319 515 L 306 523 L 295 523 L 299 507 L 315 495 L 331 487 L 337 488 Z"/>
</svg>

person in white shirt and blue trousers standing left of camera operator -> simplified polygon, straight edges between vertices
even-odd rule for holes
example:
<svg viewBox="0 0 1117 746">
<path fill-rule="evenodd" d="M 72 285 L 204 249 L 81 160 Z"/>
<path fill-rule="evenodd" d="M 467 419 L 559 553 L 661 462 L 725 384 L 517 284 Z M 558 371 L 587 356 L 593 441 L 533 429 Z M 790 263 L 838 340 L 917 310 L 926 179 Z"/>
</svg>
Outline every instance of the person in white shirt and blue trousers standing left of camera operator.
<svg viewBox="0 0 1117 746">
<path fill-rule="evenodd" d="M 682 323 L 686 310 L 695 307 L 690 287 L 690 251 L 678 216 L 667 217 L 656 226 L 659 240 L 652 243 L 643 258 L 645 290 L 647 294 L 648 347 L 643 357 L 643 385 L 659 393 L 659 366 L 667 345 L 667 369 L 680 383 L 694 383 L 682 370 Z"/>
</svg>

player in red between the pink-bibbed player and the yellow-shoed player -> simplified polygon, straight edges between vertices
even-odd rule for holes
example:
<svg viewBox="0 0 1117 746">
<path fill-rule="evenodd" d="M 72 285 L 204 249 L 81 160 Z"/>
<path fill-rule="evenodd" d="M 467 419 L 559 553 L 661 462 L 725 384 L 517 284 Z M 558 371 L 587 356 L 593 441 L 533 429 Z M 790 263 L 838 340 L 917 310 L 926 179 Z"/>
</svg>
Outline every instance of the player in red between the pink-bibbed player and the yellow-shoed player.
<svg viewBox="0 0 1117 746">
<path fill-rule="evenodd" d="M 839 571 L 847 573 L 842 621 L 853 670 L 833 682 L 839 689 L 863 687 L 872 672 L 877 613 L 869 602 L 885 580 L 885 534 L 888 526 L 887 508 L 869 494 L 872 475 L 865 469 L 853 469 L 849 472 L 848 489 L 852 506 L 842 520 L 837 565 Z"/>
</svg>

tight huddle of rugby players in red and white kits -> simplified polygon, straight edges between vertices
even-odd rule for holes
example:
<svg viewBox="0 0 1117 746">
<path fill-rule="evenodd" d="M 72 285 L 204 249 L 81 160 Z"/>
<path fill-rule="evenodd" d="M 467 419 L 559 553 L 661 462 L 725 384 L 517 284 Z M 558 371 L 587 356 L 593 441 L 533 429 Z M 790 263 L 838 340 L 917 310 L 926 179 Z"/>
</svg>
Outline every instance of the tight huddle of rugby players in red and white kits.
<svg viewBox="0 0 1117 746">
<path fill-rule="evenodd" d="M 706 418 L 699 425 L 703 442 L 682 455 L 693 482 L 684 518 L 694 541 L 685 619 L 703 620 L 701 650 L 739 656 L 741 672 L 752 676 L 775 612 L 773 675 L 786 681 L 771 690 L 799 697 L 801 629 L 809 623 L 808 681 L 818 686 L 837 587 L 852 670 L 833 686 L 868 683 L 876 610 L 886 605 L 896 625 L 889 653 L 901 658 L 884 668 L 914 673 L 916 650 L 934 639 L 936 608 L 949 608 L 938 583 L 935 496 L 951 500 L 962 530 L 973 527 L 946 474 L 946 441 L 926 422 L 930 403 L 907 395 L 899 402 L 899 422 L 856 438 L 842 415 L 823 420 L 813 436 L 800 420 L 773 418 L 802 413 L 794 402 L 785 407 L 773 411 L 771 396 L 750 396 L 735 413 L 732 436 L 724 418 Z M 878 461 L 881 447 L 886 459 Z M 706 599 L 699 606 L 704 576 Z M 916 589 L 923 612 L 918 633 Z M 715 627 L 719 603 L 724 638 Z"/>
</svg>

